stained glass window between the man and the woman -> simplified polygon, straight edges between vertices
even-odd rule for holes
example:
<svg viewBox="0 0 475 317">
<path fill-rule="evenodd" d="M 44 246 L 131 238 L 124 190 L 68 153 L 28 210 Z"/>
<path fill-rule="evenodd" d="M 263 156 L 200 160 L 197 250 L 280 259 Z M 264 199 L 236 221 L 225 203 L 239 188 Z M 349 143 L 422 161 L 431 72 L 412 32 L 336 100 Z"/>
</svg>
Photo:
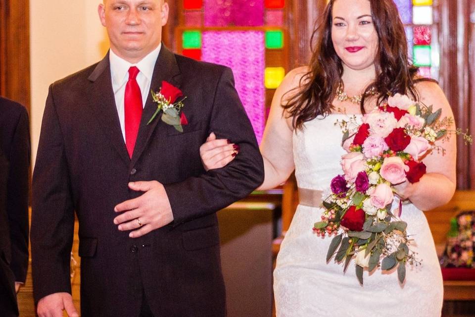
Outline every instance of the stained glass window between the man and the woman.
<svg viewBox="0 0 475 317">
<path fill-rule="evenodd" d="M 183 0 L 179 52 L 233 69 L 260 142 L 274 90 L 288 67 L 285 0 Z"/>
</svg>

